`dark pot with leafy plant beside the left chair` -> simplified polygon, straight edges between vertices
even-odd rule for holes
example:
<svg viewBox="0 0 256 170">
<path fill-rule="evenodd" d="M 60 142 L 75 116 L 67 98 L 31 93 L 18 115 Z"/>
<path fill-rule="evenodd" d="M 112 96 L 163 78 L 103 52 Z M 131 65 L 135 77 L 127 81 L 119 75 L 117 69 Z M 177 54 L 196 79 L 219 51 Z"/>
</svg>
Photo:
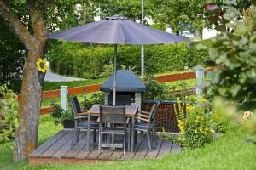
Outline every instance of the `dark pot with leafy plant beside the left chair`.
<svg viewBox="0 0 256 170">
<path fill-rule="evenodd" d="M 53 107 L 50 116 L 53 117 L 55 124 L 62 124 L 64 128 L 74 127 L 73 111 L 63 110 L 61 105 L 57 104 L 55 101 L 52 101 L 50 105 Z"/>
</svg>

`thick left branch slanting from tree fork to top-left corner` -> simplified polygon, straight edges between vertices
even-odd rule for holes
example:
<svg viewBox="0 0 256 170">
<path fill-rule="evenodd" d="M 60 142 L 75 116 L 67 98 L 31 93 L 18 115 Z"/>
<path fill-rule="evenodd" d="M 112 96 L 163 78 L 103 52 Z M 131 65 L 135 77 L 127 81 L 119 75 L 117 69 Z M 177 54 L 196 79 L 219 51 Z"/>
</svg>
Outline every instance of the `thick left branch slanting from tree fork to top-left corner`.
<svg viewBox="0 0 256 170">
<path fill-rule="evenodd" d="M 29 33 L 26 27 L 22 25 L 15 14 L 9 10 L 3 0 L 0 0 L 0 14 L 8 21 L 9 27 L 14 29 L 15 35 L 20 38 L 20 41 L 24 44 L 26 49 L 30 50 L 35 42 L 35 38 Z"/>
</svg>

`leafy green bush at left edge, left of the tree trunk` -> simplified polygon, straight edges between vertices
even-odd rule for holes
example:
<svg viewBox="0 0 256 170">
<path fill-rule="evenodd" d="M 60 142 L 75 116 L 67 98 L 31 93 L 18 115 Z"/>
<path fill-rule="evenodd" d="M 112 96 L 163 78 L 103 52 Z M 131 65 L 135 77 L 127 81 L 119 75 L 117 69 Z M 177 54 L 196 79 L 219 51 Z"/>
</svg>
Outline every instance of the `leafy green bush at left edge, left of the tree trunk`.
<svg viewBox="0 0 256 170">
<path fill-rule="evenodd" d="M 15 136 L 15 127 L 18 126 L 18 108 L 16 94 L 7 89 L 7 85 L 0 86 L 0 142 L 7 142 Z"/>
</svg>

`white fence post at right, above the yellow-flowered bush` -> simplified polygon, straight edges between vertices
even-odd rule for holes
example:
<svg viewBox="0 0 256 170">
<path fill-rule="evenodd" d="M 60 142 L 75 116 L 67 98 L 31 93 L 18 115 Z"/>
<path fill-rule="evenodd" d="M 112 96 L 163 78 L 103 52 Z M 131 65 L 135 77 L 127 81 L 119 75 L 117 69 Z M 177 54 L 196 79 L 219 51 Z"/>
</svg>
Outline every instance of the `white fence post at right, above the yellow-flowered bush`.
<svg viewBox="0 0 256 170">
<path fill-rule="evenodd" d="M 204 78 L 204 68 L 201 65 L 195 66 L 196 73 L 196 94 L 197 99 L 201 99 L 202 88 L 203 88 L 203 78 Z"/>
</svg>

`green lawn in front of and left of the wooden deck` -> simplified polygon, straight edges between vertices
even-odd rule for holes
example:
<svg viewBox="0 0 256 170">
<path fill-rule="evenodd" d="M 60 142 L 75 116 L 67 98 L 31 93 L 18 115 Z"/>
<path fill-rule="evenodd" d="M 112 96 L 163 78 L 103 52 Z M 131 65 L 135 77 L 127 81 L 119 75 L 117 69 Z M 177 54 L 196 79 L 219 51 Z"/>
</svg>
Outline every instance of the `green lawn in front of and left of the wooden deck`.
<svg viewBox="0 0 256 170">
<path fill-rule="evenodd" d="M 41 116 L 38 142 L 42 144 L 61 129 L 55 126 L 50 116 Z M 187 150 L 181 154 L 168 155 L 150 161 L 114 161 L 98 164 L 45 164 L 29 167 L 23 163 L 11 162 L 12 143 L 0 144 L 0 169 L 38 169 L 38 170 L 113 170 L 113 169 L 256 169 L 256 146 L 245 142 L 244 133 L 235 129 L 212 144 L 197 150 Z"/>
</svg>

